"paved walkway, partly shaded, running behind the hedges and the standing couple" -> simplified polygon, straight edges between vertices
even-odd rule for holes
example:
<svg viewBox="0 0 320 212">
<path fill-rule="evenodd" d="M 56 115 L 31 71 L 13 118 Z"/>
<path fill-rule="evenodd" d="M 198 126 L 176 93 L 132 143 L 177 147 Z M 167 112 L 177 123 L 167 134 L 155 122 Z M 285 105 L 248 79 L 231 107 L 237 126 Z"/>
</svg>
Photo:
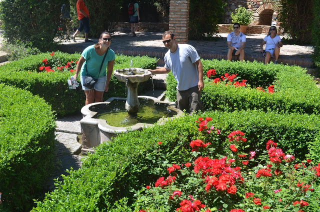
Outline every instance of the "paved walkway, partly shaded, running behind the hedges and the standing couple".
<svg viewBox="0 0 320 212">
<path fill-rule="evenodd" d="M 201 58 L 204 59 L 226 59 L 226 36 L 227 33 L 220 33 L 214 41 L 189 40 L 188 44 L 195 47 Z M 247 34 L 245 46 L 245 60 L 262 61 L 263 56 L 260 53 L 260 43 L 265 34 Z M 282 36 L 280 36 L 282 37 Z M 110 48 L 115 53 L 125 55 L 148 55 L 159 58 L 159 65 L 163 65 L 163 56 L 167 49 L 162 43 L 162 32 L 136 32 L 132 37 L 130 33 L 114 32 Z M 92 39 L 97 42 L 98 39 Z M 76 42 L 66 41 L 59 46 L 61 51 L 74 53 L 82 52 L 85 47 L 92 43 L 84 42 L 84 39 L 76 38 Z M 280 50 L 278 61 L 289 65 L 300 65 L 310 67 L 312 65 L 311 53 L 312 46 L 306 45 L 283 45 Z"/>
</svg>

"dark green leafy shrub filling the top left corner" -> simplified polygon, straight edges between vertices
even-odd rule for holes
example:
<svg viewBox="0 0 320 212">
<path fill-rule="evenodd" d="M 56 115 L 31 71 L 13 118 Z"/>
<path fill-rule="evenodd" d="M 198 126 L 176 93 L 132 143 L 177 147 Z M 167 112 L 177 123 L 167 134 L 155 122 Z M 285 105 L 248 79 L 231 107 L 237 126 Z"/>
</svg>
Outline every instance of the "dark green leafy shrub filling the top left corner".
<svg viewBox="0 0 320 212">
<path fill-rule="evenodd" d="M 54 48 L 54 38 L 63 35 L 58 30 L 62 3 L 63 0 L 0 1 L 4 38 L 11 43 L 29 43 L 41 51 Z"/>
</svg>

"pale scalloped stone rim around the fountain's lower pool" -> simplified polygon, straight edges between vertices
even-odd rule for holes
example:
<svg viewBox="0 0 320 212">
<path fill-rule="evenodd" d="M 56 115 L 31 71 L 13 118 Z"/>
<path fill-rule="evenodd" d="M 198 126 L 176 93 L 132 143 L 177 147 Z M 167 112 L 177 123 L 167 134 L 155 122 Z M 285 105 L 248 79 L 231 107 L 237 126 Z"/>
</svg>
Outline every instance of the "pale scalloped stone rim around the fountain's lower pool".
<svg viewBox="0 0 320 212">
<path fill-rule="evenodd" d="M 166 117 L 166 118 L 159 118 L 159 120 L 156 123 L 163 124 L 165 121 L 175 118 L 175 117 L 180 117 L 183 115 L 183 111 L 175 108 L 175 103 L 172 101 L 162 101 L 159 100 L 155 97 L 152 96 L 146 96 L 146 95 L 139 95 L 138 98 L 150 98 L 154 101 L 154 103 L 168 103 L 168 106 L 170 109 L 174 110 L 177 112 L 176 115 L 173 117 Z M 125 100 L 126 98 L 122 97 L 110 97 L 106 101 L 102 102 L 95 102 L 95 103 L 90 103 L 81 108 L 81 113 L 83 115 L 83 118 L 80 120 L 80 123 L 84 124 L 90 124 L 90 125 L 98 125 L 98 128 L 107 132 L 107 133 L 121 133 L 121 132 L 129 132 L 133 130 L 141 130 L 143 128 L 146 128 L 148 126 L 154 125 L 153 123 L 136 123 L 132 126 L 126 126 L 126 127 L 120 127 L 120 126 L 111 126 L 106 123 L 106 120 L 104 119 L 99 119 L 99 118 L 92 118 L 97 112 L 89 110 L 89 107 L 95 104 L 101 104 L 101 103 L 110 103 L 114 99 L 119 99 L 119 100 Z"/>
</svg>

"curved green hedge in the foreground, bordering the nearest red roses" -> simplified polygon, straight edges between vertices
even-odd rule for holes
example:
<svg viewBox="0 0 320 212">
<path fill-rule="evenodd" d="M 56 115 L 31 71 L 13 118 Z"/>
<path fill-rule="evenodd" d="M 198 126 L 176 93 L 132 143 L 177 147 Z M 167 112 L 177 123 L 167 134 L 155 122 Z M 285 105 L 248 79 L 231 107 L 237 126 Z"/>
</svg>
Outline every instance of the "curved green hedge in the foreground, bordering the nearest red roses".
<svg viewBox="0 0 320 212">
<path fill-rule="evenodd" d="M 249 149 L 264 149 L 265 142 L 273 139 L 300 159 L 305 159 L 303 154 L 320 131 L 317 115 L 211 111 L 199 116 L 212 117 L 221 137 L 235 129 L 245 132 Z M 166 173 L 164 161 L 168 164 L 189 161 L 189 142 L 197 135 L 197 117 L 175 118 L 164 125 L 121 134 L 109 145 L 99 145 L 94 154 L 87 156 L 81 169 L 63 176 L 63 185 L 47 194 L 44 201 L 38 201 L 32 211 L 132 211 L 126 206 L 115 209 L 114 204 L 119 201 L 118 204 L 131 205 L 136 190 Z M 162 142 L 160 153 L 156 151 L 158 141 Z M 222 154 L 224 144 L 217 139 L 212 146 Z"/>
</svg>

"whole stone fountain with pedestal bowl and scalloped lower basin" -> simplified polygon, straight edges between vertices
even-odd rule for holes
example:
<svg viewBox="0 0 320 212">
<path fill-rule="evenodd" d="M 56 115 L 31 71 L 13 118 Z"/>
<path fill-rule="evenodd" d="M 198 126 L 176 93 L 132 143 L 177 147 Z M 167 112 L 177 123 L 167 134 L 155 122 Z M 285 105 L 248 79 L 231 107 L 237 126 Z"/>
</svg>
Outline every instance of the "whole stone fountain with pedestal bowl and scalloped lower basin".
<svg viewBox="0 0 320 212">
<path fill-rule="evenodd" d="M 110 105 L 116 101 L 123 101 L 125 100 L 125 110 L 128 116 L 135 115 L 140 111 L 140 99 L 146 99 L 146 101 L 152 101 L 152 105 L 162 105 L 164 106 L 165 110 L 168 111 L 171 116 L 163 115 L 155 120 L 155 122 L 163 123 L 164 121 L 172 118 L 174 116 L 180 116 L 183 112 L 177 108 L 175 108 L 174 102 L 169 101 L 161 101 L 155 97 L 151 96 L 138 96 L 137 95 L 137 86 L 140 82 L 146 81 L 150 78 L 151 72 L 146 69 L 141 68 L 123 68 L 114 70 L 115 77 L 125 83 L 127 87 L 127 97 L 126 98 L 119 98 L 119 97 L 111 97 L 104 102 L 96 102 L 87 104 L 81 109 L 81 113 L 83 118 L 80 120 L 81 125 L 81 138 L 82 138 L 82 153 L 86 152 L 94 152 L 93 147 L 99 145 L 102 142 L 110 141 L 114 136 L 119 133 L 125 133 L 132 130 L 142 130 L 143 128 L 153 125 L 152 123 L 147 123 L 147 121 L 136 122 L 132 125 L 128 126 L 117 126 L 117 125 L 110 125 L 111 121 L 108 122 L 106 119 L 98 118 L 99 117 L 99 110 L 104 110 L 106 107 L 110 107 Z M 144 106 L 142 106 L 143 110 Z M 113 108 L 107 113 L 111 119 L 113 118 L 113 114 L 118 112 L 118 108 Z M 156 109 L 153 109 L 153 112 Z M 147 112 L 151 115 L 151 112 Z M 156 113 L 156 112 L 155 112 Z M 162 114 L 162 113 L 161 113 Z M 126 119 L 126 118 L 124 118 Z M 110 124 L 108 124 L 110 123 Z"/>
</svg>

